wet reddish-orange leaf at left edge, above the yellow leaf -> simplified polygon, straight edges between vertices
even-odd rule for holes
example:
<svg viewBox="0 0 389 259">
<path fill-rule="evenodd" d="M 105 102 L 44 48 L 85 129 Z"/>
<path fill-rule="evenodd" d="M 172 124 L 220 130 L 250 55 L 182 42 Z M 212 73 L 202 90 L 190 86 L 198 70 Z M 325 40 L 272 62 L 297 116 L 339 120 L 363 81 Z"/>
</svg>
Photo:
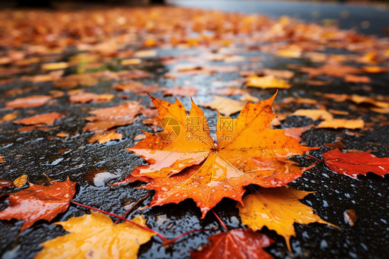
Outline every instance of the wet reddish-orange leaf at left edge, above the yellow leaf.
<svg viewBox="0 0 389 259">
<path fill-rule="evenodd" d="M 38 220 L 51 221 L 66 211 L 74 194 L 75 183 L 69 178 L 51 186 L 30 184 L 29 188 L 9 195 L 10 205 L 0 211 L 0 220 L 23 220 L 20 231 L 24 231 Z"/>
</svg>

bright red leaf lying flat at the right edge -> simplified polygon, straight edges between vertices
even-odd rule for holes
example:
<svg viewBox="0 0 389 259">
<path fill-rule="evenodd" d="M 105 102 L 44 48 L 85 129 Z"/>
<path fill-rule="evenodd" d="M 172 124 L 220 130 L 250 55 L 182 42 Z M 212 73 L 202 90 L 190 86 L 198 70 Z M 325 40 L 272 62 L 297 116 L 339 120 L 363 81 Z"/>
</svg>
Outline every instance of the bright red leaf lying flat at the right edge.
<svg viewBox="0 0 389 259">
<path fill-rule="evenodd" d="M 356 178 L 374 172 L 383 177 L 389 173 L 389 157 L 379 158 L 369 151 L 343 153 L 336 149 L 323 153 L 323 157 L 329 169 L 341 175 Z"/>
</svg>

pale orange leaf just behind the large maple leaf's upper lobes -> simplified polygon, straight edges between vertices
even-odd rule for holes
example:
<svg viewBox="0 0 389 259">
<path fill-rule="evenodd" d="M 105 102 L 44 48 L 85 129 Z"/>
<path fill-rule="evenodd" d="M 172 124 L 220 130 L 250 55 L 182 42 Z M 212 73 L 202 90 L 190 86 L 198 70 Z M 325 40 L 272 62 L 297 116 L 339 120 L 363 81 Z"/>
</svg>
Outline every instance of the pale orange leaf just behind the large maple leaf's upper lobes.
<svg viewBox="0 0 389 259">
<path fill-rule="evenodd" d="M 199 103 L 199 106 L 210 107 L 211 109 L 217 109 L 221 114 L 230 116 L 238 111 L 241 111 L 246 102 L 239 100 L 233 100 L 227 97 L 212 96 L 213 100 L 210 102 Z"/>
</svg>

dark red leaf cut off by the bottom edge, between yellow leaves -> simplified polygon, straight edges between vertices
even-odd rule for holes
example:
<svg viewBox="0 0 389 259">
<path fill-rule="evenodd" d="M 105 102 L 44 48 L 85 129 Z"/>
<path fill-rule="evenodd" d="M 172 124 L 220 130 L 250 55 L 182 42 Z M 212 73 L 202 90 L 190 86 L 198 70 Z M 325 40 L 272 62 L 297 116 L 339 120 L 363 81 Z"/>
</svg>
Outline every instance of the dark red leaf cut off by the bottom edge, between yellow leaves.
<svg viewBox="0 0 389 259">
<path fill-rule="evenodd" d="M 201 251 L 192 251 L 191 259 L 197 258 L 273 258 L 263 247 L 269 247 L 273 240 L 251 229 L 233 229 L 226 233 L 217 233 L 209 238 L 210 244 L 201 247 Z"/>
</svg>

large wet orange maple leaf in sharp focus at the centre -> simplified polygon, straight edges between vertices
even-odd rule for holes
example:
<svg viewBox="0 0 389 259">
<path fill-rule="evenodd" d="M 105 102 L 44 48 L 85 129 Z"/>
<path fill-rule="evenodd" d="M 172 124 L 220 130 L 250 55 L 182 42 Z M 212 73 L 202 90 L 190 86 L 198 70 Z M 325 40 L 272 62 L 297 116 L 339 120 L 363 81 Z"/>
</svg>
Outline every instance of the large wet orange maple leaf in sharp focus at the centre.
<svg viewBox="0 0 389 259">
<path fill-rule="evenodd" d="M 316 149 L 303 147 L 286 136 L 284 130 L 268 128 L 277 116 L 271 110 L 275 95 L 257 103 L 248 102 L 236 119 L 219 115 L 217 141 L 210 136 L 203 111 L 194 102 L 186 114 L 179 100 L 170 104 L 151 98 L 159 111 L 155 119 L 165 130 L 145 133 L 146 139 L 126 149 L 150 163 L 138 166 L 129 175 L 130 179 L 151 179 L 141 186 L 155 190 L 150 206 L 192 198 L 205 217 L 224 197 L 242 202 L 244 186 L 248 184 L 285 186 L 300 177 L 308 168 L 300 168 L 287 158 Z M 191 129 L 192 119 L 201 120 L 201 127 Z"/>
</svg>

